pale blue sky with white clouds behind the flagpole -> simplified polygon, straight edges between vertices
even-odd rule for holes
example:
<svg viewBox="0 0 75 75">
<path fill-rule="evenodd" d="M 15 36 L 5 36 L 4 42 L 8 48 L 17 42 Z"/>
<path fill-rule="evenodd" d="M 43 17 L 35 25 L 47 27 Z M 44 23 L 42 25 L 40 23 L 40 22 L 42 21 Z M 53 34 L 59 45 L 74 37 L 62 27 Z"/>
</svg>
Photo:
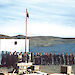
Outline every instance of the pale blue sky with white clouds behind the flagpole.
<svg viewBox="0 0 75 75">
<path fill-rule="evenodd" d="M 75 0 L 0 0 L 0 34 L 75 37 Z"/>
</svg>

